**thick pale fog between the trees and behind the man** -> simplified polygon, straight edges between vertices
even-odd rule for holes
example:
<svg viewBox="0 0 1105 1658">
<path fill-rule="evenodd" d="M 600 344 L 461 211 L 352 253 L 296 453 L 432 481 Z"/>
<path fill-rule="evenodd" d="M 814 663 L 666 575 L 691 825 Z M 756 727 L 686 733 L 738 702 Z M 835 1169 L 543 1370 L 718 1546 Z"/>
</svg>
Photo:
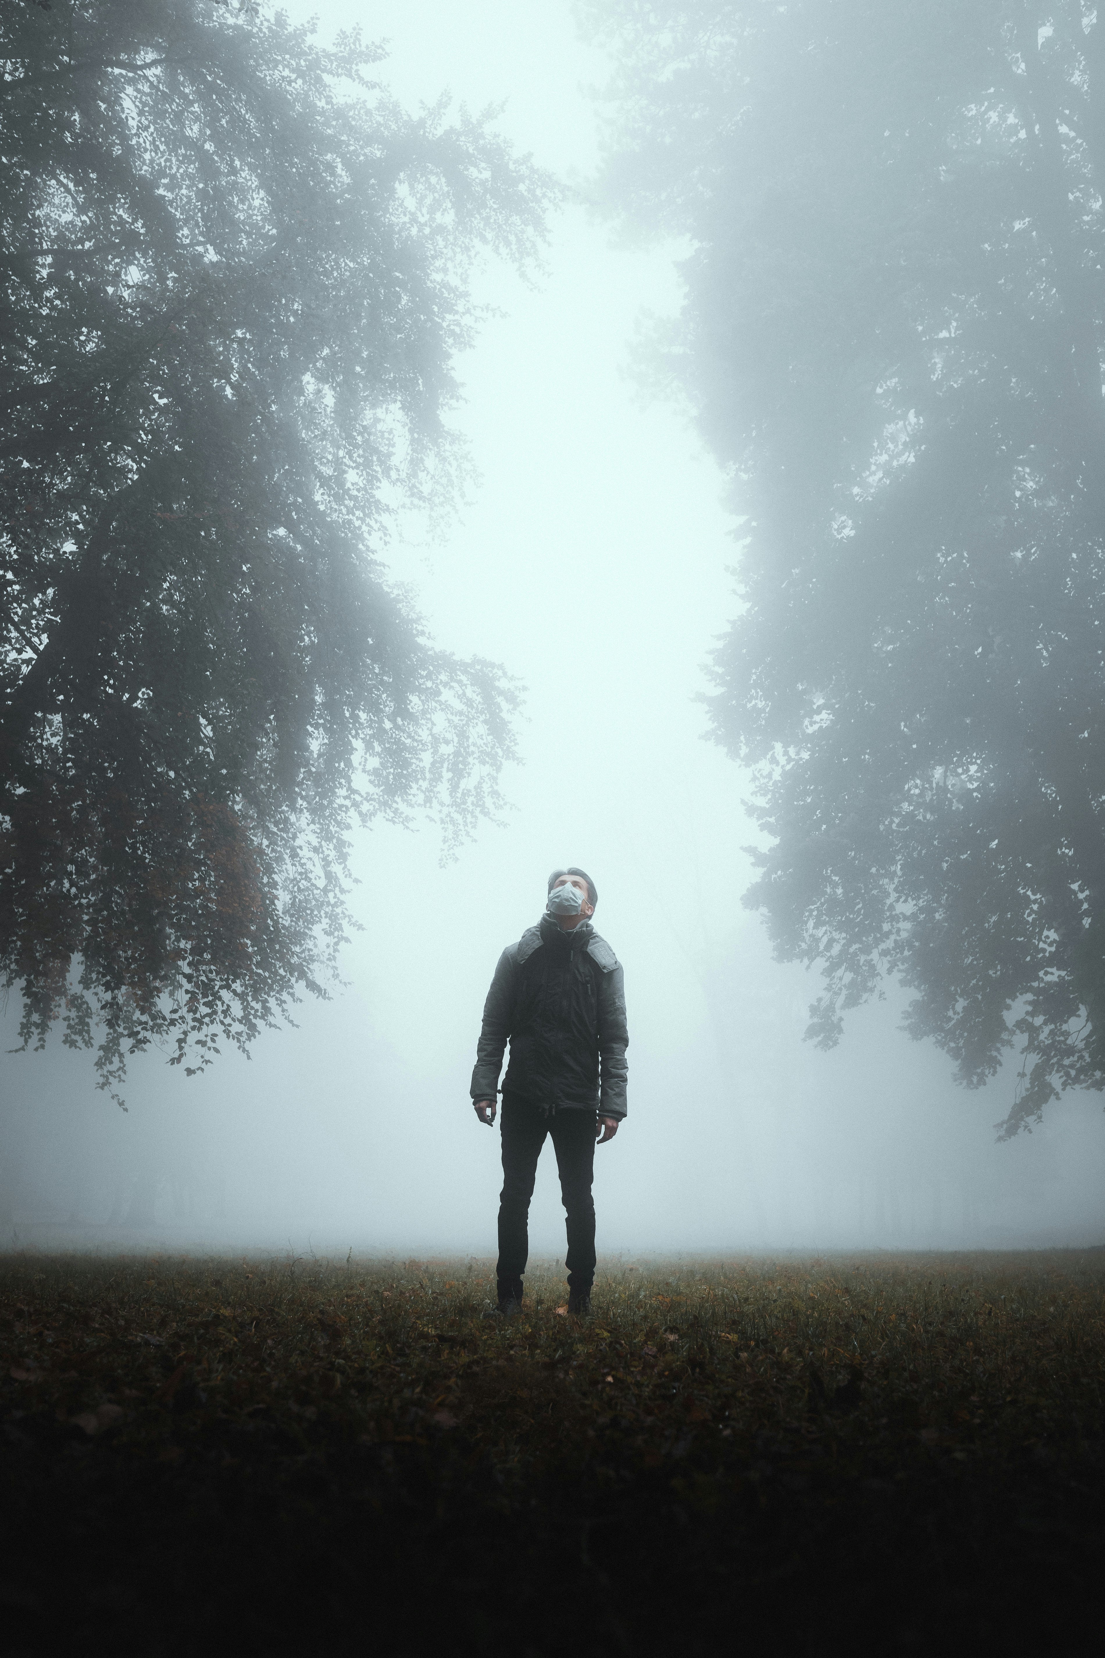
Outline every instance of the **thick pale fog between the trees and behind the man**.
<svg viewBox="0 0 1105 1658">
<path fill-rule="evenodd" d="M 313 8 L 292 7 L 293 15 Z M 391 41 L 408 104 L 449 88 L 562 176 L 596 161 L 603 61 L 562 0 L 321 5 Z M 432 824 L 356 841 L 345 988 L 305 1001 L 250 1061 L 187 1079 L 151 1054 L 98 1093 L 89 1054 L 7 1054 L 8 1237 L 28 1247 L 494 1252 L 499 1131 L 469 1098 L 502 947 L 545 877 L 585 867 L 625 965 L 630 1116 L 596 1152 L 600 1272 L 616 1252 L 1006 1247 L 1105 1235 L 1100 1096 L 996 1142 L 1014 1066 L 981 1093 L 900 1033 L 903 1000 L 803 1043 L 817 980 L 772 962 L 741 907 L 747 781 L 704 741 L 711 643 L 734 612 L 732 517 L 688 419 L 628 376 L 643 310 L 678 303 L 678 249 L 616 249 L 581 206 L 537 287 L 489 265 L 500 308 L 461 365 L 480 471 L 444 532 L 404 519 L 383 555 L 434 638 L 525 683 L 512 809 L 439 864 Z M 17 1008 L 5 1031 L 15 1045 Z M 563 1247 L 547 1147 L 532 1247 Z"/>
</svg>

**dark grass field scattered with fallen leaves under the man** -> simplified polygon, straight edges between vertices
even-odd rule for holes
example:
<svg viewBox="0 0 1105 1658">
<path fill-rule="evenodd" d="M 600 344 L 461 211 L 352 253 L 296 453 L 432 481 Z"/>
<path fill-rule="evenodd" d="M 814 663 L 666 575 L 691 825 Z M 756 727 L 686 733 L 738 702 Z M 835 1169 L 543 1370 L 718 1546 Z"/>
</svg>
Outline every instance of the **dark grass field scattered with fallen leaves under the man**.
<svg viewBox="0 0 1105 1658">
<path fill-rule="evenodd" d="M 8 1650 L 1052 1641 L 1097 1597 L 1105 1252 L 7 1257 Z M 1027 1650 L 1027 1648 L 1025 1648 Z"/>
</svg>

